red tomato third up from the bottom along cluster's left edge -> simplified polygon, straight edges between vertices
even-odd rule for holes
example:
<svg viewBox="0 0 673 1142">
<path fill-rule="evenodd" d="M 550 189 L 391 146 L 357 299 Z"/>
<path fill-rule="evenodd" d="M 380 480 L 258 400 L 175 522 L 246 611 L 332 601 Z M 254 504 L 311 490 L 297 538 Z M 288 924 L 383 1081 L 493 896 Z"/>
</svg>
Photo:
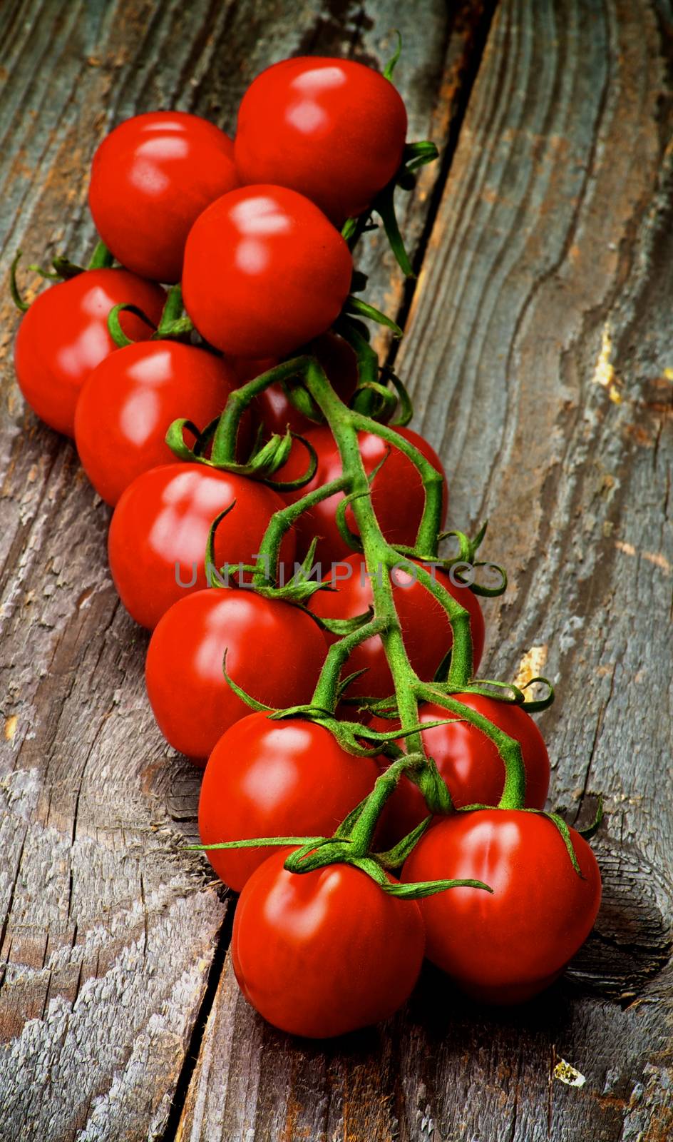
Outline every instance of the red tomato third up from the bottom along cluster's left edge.
<svg viewBox="0 0 673 1142">
<path fill-rule="evenodd" d="M 225 651 L 229 677 L 283 709 L 310 700 L 326 644 L 303 611 L 251 590 L 210 587 L 175 603 L 149 640 L 147 694 L 164 738 L 201 764 L 234 722 L 250 722 L 224 676 Z"/>
</svg>

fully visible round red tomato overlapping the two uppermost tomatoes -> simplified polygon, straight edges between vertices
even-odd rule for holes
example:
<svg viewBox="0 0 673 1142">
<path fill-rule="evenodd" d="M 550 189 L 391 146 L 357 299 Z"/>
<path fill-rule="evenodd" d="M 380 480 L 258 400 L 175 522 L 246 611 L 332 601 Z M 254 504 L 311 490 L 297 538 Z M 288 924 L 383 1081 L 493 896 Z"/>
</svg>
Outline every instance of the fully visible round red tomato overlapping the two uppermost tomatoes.
<svg viewBox="0 0 673 1142">
<path fill-rule="evenodd" d="M 185 307 L 224 353 L 284 356 L 339 315 L 352 274 L 341 234 L 313 202 L 279 186 L 217 199 L 185 248 Z"/>
</svg>

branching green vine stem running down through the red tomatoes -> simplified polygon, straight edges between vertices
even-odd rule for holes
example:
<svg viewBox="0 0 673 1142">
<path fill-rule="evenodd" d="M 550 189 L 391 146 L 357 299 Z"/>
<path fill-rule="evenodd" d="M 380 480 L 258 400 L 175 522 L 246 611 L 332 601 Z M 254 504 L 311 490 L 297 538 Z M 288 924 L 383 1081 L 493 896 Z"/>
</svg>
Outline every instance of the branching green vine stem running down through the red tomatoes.
<svg viewBox="0 0 673 1142">
<path fill-rule="evenodd" d="M 471 685 L 473 657 L 470 617 L 467 609 L 429 573 L 427 568 L 417 562 L 411 562 L 412 557 L 425 561 L 436 558 L 441 534 L 443 500 L 441 474 L 413 444 L 396 433 L 394 428 L 379 424 L 357 409 L 343 404 L 317 360 L 303 355 L 276 365 L 232 394 L 214 433 L 212 459 L 216 463 L 230 463 L 235 455 L 238 423 L 250 402 L 268 385 L 290 378 L 302 381 L 330 426 L 339 449 L 342 475 L 323 488 L 307 493 L 294 504 L 287 505 L 271 517 L 260 544 L 252 585 L 258 590 L 270 595 L 278 594 L 284 589 L 275 587 L 274 584 L 285 532 L 302 512 L 322 499 L 336 492 L 343 492 L 359 532 L 359 544 L 364 552 L 372 586 L 372 609 L 371 614 L 363 617 L 363 622 L 356 629 L 346 633 L 331 646 L 311 702 L 306 709 L 322 711 L 318 715 L 321 718 L 323 715 L 326 715 L 327 721 L 332 718 L 340 699 L 341 673 L 350 652 L 366 638 L 378 636 L 383 644 L 392 676 L 394 703 L 397 708 L 400 729 L 390 733 L 388 741 L 390 748 L 384 749 L 386 753 L 394 755 L 395 759 L 378 779 L 368 797 L 349 815 L 332 839 L 323 838 L 323 842 L 316 845 L 315 839 L 310 838 L 310 842 L 303 844 L 289 856 L 286 867 L 294 871 L 309 871 L 336 860 L 356 862 L 358 867 L 374 876 L 384 886 L 383 882 L 388 883 L 386 874 L 381 864 L 376 864 L 375 859 L 370 855 L 370 847 L 376 821 L 400 777 L 406 774 L 419 786 L 430 813 L 453 811 L 448 788 L 423 748 L 419 703 L 436 702 L 446 709 L 453 718 L 457 717 L 461 721 L 470 722 L 494 742 L 503 761 L 505 773 L 503 794 L 500 801 L 502 809 L 524 805 L 525 770 L 521 749 L 514 739 L 495 726 L 488 718 L 452 697 L 452 693 L 467 690 Z M 359 451 L 358 434 L 362 432 L 374 433 L 391 448 L 399 449 L 420 473 L 425 502 L 416 540 L 408 554 L 406 549 L 400 553 L 392 547 L 381 532 L 372 506 L 372 475 L 365 472 Z M 395 606 L 391 581 L 391 572 L 398 570 L 406 570 L 410 574 L 415 576 L 419 582 L 438 600 L 448 616 L 453 646 L 446 682 L 423 682 L 410 664 Z M 309 589 L 311 592 L 321 589 L 321 585 L 311 584 Z M 406 740 L 405 753 L 399 750 L 399 747 L 394 746 L 396 737 Z M 234 844 L 232 843 L 232 845 Z M 374 866 L 376 871 L 370 866 Z"/>
</svg>

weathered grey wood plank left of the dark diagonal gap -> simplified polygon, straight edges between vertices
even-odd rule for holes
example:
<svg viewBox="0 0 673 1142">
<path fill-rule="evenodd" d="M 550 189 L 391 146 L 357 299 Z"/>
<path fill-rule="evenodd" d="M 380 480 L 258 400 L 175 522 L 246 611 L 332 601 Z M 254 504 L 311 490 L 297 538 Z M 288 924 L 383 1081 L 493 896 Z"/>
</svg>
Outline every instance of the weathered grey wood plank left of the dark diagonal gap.
<svg viewBox="0 0 673 1142">
<path fill-rule="evenodd" d="M 88 164 L 116 121 L 177 106 L 233 128 L 245 85 L 285 54 L 380 59 L 399 26 L 412 131 L 443 137 L 481 5 L 459 15 L 460 25 L 440 0 L 413 13 L 308 0 L 0 6 L 2 276 L 19 244 L 26 262 L 64 246 L 74 257 L 90 250 Z M 412 248 L 437 177 L 424 172 L 407 204 Z M 380 247 L 367 270 L 386 300 L 391 264 Z M 388 300 L 398 299 L 396 284 Z M 160 1137 L 217 975 L 227 903 L 205 862 L 181 847 L 194 836 L 197 774 L 153 724 L 146 637 L 105 565 L 108 510 L 73 449 L 23 407 L 16 323 L 3 296 L 0 1136 Z M 260 1089 L 262 1105 L 273 1097 Z"/>
</svg>

